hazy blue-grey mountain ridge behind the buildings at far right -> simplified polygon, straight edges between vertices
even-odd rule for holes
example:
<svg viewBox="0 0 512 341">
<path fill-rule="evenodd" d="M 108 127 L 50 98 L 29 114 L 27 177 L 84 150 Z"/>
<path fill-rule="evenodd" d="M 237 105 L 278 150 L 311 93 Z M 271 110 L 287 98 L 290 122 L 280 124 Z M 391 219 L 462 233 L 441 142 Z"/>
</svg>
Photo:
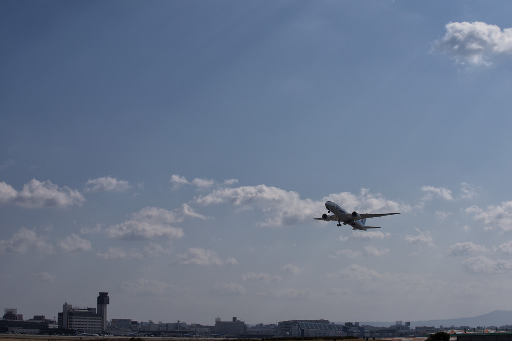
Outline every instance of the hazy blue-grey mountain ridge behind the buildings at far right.
<svg viewBox="0 0 512 341">
<path fill-rule="evenodd" d="M 403 320 L 405 323 L 407 320 Z M 396 322 L 359 322 L 360 325 L 370 325 L 375 327 L 389 327 L 394 326 Z M 488 314 L 475 316 L 475 317 L 461 317 L 460 319 L 448 320 L 429 320 L 429 321 L 411 321 L 411 328 L 415 327 L 460 327 L 470 326 L 474 327 L 488 327 L 496 326 L 501 327 L 505 325 L 512 326 L 512 310 L 495 310 Z"/>
</svg>

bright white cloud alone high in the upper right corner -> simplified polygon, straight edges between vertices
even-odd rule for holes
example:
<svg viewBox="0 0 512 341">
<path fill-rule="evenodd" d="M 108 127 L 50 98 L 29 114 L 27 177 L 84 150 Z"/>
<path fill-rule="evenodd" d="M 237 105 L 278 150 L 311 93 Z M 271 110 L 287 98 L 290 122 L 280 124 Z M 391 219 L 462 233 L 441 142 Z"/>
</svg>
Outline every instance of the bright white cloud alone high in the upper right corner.
<svg viewBox="0 0 512 341">
<path fill-rule="evenodd" d="M 456 62 L 489 65 L 489 58 L 512 54 L 512 29 L 485 22 L 450 22 L 444 36 L 434 41 L 432 49 L 452 56 Z"/>
</svg>

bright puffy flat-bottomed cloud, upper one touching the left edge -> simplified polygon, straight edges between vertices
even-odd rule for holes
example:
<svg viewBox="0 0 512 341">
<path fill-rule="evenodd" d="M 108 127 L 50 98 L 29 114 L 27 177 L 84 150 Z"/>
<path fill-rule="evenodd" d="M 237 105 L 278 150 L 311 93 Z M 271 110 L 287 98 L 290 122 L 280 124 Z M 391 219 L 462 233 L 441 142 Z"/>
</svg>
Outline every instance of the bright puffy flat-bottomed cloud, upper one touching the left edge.
<svg viewBox="0 0 512 341">
<path fill-rule="evenodd" d="M 50 180 L 30 180 L 18 192 L 5 182 L 0 183 L 0 204 L 16 204 L 26 208 L 81 206 L 86 199 L 77 190 L 59 188 Z"/>
</svg>

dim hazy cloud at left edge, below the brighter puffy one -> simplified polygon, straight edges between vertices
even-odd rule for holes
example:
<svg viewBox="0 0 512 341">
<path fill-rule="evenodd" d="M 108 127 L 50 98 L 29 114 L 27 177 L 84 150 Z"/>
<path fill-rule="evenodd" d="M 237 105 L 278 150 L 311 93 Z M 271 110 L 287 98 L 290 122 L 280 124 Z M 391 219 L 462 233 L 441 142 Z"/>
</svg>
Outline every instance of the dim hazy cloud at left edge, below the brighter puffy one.
<svg viewBox="0 0 512 341">
<path fill-rule="evenodd" d="M 0 254 L 17 253 L 25 254 L 29 251 L 52 253 L 53 246 L 46 241 L 47 238 L 38 236 L 33 230 L 21 228 L 11 239 L 0 240 Z"/>
</svg>

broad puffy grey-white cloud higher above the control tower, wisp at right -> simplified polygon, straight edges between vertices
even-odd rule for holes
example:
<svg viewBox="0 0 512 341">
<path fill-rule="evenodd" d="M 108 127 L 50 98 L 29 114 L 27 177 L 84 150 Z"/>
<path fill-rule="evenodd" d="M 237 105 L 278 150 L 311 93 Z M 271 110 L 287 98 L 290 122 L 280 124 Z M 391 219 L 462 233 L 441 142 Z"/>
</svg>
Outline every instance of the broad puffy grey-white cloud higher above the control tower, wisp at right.
<svg viewBox="0 0 512 341">
<path fill-rule="evenodd" d="M 183 229 L 174 228 L 171 224 L 181 222 L 181 215 L 173 211 L 167 211 L 157 207 L 146 207 L 132 214 L 130 220 L 121 224 L 110 226 L 106 233 L 111 238 L 121 239 L 151 239 L 168 238 L 178 239 L 183 237 Z"/>
</svg>

